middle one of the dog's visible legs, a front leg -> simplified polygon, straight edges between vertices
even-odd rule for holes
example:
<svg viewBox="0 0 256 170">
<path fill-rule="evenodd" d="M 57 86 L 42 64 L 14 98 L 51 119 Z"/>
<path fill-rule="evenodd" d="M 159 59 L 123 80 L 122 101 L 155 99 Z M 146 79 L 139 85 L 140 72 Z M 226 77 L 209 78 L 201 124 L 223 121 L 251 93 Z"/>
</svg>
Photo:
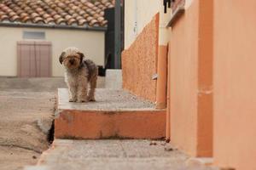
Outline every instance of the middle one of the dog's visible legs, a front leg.
<svg viewBox="0 0 256 170">
<path fill-rule="evenodd" d="M 80 76 L 78 83 L 78 102 L 87 102 L 87 77 Z"/>
</svg>

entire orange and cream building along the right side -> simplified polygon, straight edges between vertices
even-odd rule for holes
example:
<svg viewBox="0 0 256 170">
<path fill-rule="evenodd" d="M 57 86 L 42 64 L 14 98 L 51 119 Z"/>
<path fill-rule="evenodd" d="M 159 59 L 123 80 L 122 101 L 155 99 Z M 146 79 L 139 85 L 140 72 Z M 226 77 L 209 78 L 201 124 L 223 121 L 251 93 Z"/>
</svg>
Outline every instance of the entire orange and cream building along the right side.
<svg viewBox="0 0 256 170">
<path fill-rule="evenodd" d="M 125 1 L 123 87 L 166 101 L 166 139 L 218 167 L 256 169 L 255 5 Z"/>
</svg>

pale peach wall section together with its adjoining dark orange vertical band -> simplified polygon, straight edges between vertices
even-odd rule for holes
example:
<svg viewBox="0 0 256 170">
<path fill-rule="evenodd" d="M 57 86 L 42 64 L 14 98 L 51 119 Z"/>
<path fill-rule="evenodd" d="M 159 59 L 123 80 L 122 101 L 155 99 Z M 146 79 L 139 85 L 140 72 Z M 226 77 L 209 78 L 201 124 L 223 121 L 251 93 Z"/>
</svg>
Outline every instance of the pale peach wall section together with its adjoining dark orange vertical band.
<svg viewBox="0 0 256 170">
<path fill-rule="evenodd" d="M 192 156 L 212 156 L 211 2 L 194 0 L 170 42 L 171 142 Z"/>
</svg>

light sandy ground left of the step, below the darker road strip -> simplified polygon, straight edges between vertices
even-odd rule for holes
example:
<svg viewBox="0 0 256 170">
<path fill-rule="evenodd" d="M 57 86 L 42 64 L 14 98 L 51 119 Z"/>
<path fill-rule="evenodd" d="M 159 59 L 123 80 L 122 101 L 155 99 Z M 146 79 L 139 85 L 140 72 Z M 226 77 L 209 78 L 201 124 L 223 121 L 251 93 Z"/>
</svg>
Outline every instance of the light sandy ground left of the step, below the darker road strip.
<svg viewBox="0 0 256 170">
<path fill-rule="evenodd" d="M 34 165 L 49 147 L 55 93 L 0 91 L 0 169 Z"/>
</svg>

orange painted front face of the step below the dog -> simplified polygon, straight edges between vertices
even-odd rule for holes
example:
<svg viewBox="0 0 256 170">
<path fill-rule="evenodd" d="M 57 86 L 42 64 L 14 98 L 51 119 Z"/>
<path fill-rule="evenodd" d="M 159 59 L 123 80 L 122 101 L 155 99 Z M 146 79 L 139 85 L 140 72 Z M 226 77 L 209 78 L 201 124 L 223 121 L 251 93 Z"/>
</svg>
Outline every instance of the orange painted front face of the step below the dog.
<svg viewBox="0 0 256 170">
<path fill-rule="evenodd" d="M 166 111 L 61 111 L 55 118 L 55 138 L 161 139 Z"/>
</svg>

